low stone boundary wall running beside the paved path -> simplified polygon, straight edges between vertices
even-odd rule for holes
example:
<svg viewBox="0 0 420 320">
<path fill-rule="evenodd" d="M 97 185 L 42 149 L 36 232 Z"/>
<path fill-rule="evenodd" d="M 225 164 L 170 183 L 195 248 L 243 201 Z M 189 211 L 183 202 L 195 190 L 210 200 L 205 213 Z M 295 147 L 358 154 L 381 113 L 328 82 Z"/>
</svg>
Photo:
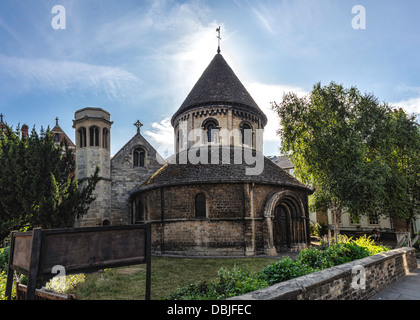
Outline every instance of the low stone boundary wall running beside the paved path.
<svg viewBox="0 0 420 320">
<path fill-rule="evenodd" d="M 416 268 L 414 248 L 405 247 L 284 281 L 232 300 L 364 300 Z M 357 281 L 361 269 L 365 272 L 364 289 Z M 355 289 L 353 282 L 359 287 Z"/>
</svg>

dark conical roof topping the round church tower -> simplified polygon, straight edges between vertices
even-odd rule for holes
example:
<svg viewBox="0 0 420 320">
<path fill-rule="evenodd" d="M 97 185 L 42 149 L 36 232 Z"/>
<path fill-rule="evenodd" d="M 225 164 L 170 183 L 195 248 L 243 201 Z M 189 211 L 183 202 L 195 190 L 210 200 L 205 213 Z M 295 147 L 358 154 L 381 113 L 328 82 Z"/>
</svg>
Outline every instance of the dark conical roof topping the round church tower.
<svg viewBox="0 0 420 320">
<path fill-rule="evenodd" d="M 220 53 L 214 56 L 181 107 L 173 115 L 172 126 L 174 125 L 175 119 L 181 113 L 198 106 L 214 104 L 235 106 L 238 109 L 251 112 L 261 117 L 263 126 L 267 123 L 265 114 L 255 103 L 254 99 Z"/>
</svg>

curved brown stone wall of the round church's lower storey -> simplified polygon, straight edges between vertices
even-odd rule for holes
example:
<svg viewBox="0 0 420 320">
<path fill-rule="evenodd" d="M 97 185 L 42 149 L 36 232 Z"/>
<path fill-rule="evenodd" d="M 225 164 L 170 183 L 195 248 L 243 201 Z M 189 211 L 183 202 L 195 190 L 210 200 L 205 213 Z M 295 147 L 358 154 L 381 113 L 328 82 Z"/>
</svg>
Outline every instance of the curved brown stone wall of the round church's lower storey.
<svg viewBox="0 0 420 320">
<path fill-rule="evenodd" d="M 144 206 L 145 222 L 152 224 L 153 252 L 252 256 L 269 254 L 266 247 L 272 242 L 272 232 L 267 229 L 264 208 L 267 200 L 282 190 L 251 183 L 203 183 L 160 187 L 135 196 Z M 206 217 L 195 216 L 198 193 L 206 197 Z M 303 197 L 299 191 L 295 194 Z"/>
</svg>

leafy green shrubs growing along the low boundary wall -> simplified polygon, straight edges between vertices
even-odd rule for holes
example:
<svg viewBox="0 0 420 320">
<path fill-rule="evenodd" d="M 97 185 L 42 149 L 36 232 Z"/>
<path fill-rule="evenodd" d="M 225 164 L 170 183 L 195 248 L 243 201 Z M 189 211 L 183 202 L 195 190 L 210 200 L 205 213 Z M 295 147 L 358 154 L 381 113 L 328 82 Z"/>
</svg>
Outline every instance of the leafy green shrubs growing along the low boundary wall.
<svg viewBox="0 0 420 320">
<path fill-rule="evenodd" d="M 366 236 L 356 240 L 342 236 L 339 242 L 328 243 L 323 250 L 314 247 L 304 249 L 296 259 L 282 257 L 258 273 L 244 272 L 236 266 L 231 270 L 221 268 L 215 281 L 191 283 L 166 299 L 226 299 L 387 250 L 387 247 L 375 245 Z"/>
</svg>

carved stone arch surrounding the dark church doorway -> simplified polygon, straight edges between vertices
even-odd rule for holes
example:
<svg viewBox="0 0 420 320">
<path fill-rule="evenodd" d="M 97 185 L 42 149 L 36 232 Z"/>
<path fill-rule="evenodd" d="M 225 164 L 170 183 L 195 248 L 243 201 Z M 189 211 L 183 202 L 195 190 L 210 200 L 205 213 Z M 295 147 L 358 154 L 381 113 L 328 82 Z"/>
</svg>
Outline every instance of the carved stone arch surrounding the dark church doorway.
<svg viewBox="0 0 420 320">
<path fill-rule="evenodd" d="M 281 220 L 284 226 L 282 236 L 286 239 L 287 248 L 284 250 L 300 250 L 306 246 L 307 217 L 305 207 L 300 197 L 293 191 L 285 190 L 272 195 L 264 208 L 265 251 L 268 255 L 277 255 L 281 244 L 278 241 L 279 212 L 284 216 Z M 276 221 L 278 220 L 278 221 Z M 288 233 L 288 234 L 287 234 Z"/>
</svg>

